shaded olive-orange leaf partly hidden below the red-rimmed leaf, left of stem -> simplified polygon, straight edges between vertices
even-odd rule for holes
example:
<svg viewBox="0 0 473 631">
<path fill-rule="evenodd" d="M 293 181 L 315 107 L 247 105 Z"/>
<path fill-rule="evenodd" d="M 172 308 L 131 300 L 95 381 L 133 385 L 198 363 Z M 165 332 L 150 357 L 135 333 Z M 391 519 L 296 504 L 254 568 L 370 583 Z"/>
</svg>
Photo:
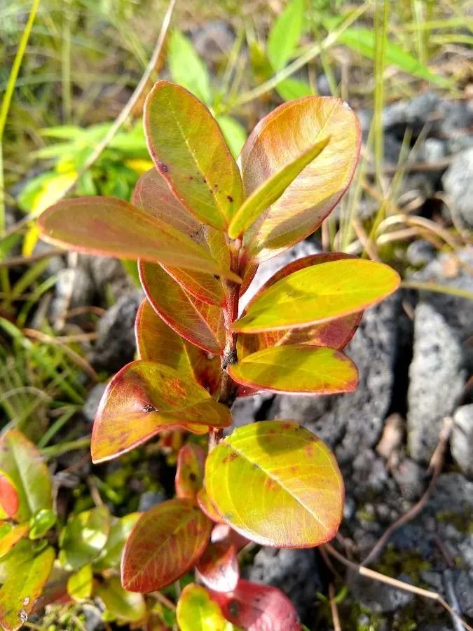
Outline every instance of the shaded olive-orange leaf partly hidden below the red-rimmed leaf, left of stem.
<svg viewBox="0 0 473 631">
<path fill-rule="evenodd" d="M 219 355 L 211 355 L 178 335 L 154 311 L 147 299 L 139 306 L 135 334 L 139 359 L 174 368 L 182 376 L 197 381 L 210 394 L 219 390 Z"/>
</svg>

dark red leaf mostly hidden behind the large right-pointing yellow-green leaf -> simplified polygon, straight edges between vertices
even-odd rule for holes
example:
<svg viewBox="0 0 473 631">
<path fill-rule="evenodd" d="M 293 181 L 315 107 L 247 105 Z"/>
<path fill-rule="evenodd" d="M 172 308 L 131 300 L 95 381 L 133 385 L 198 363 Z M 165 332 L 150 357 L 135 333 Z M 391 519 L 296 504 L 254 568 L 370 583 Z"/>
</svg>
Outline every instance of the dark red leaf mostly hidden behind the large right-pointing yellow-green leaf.
<svg viewBox="0 0 473 631">
<path fill-rule="evenodd" d="M 277 271 L 275 275 L 265 283 L 264 287 L 262 287 L 261 290 L 254 295 L 252 300 L 249 301 L 249 305 L 251 305 L 252 301 L 257 299 L 261 293 L 277 283 L 278 280 L 289 276 L 289 274 L 292 274 L 294 271 L 304 269 L 311 265 L 327 263 L 329 261 L 353 258 L 355 257 L 343 254 L 343 252 L 324 252 L 322 254 L 310 255 L 308 257 L 296 259 L 296 261 L 289 263 Z M 245 315 L 245 313 L 243 315 Z M 262 351 L 263 348 L 268 348 L 269 346 L 285 344 L 329 346 L 329 348 L 336 348 L 337 351 L 341 351 L 355 334 L 359 322 L 362 319 L 362 315 L 363 312 L 360 311 L 359 313 L 346 315 L 345 318 L 329 320 L 329 322 L 310 325 L 308 327 L 266 331 L 249 335 L 240 334 L 237 341 L 238 358 L 242 359 L 250 353 Z M 239 394 L 239 396 L 242 395 Z"/>
</svg>

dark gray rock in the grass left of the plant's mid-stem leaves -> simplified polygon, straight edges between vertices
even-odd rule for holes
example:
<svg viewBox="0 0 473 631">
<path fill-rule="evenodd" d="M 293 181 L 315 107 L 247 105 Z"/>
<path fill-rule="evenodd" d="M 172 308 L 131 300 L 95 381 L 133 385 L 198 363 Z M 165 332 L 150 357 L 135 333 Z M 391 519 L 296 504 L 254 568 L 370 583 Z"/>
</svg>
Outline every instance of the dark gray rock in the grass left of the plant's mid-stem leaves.
<svg viewBox="0 0 473 631">
<path fill-rule="evenodd" d="M 143 296 L 125 294 L 111 306 L 97 327 L 98 339 L 90 354 L 96 369 L 116 372 L 135 356 L 135 318 Z"/>
</svg>

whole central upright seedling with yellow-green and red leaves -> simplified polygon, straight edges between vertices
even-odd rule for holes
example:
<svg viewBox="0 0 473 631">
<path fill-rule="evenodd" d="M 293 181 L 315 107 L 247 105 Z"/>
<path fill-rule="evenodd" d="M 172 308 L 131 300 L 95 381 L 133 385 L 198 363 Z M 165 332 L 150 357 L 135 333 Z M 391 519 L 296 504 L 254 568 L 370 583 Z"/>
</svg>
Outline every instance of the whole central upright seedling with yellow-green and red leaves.
<svg viewBox="0 0 473 631">
<path fill-rule="evenodd" d="M 209 435 L 207 452 L 182 447 L 176 498 L 133 527 L 122 585 L 160 590 L 196 567 L 208 590 L 181 593 L 181 628 L 197 628 L 203 610 L 257 628 L 252 620 L 265 607 L 286 631 L 300 628 L 280 592 L 238 578 L 235 550 L 247 540 L 307 548 L 331 539 L 341 474 L 327 445 L 294 421 L 231 430 L 230 408 L 259 391 L 354 390 L 357 368 L 343 348 L 364 308 L 394 292 L 399 277 L 384 264 L 324 253 L 278 271 L 242 313 L 239 301 L 259 264 L 313 233 L 338 203 L 357 164 L 359 123 L 341 100 L 303 97 L 263 118 L 235 161 L 207 107 L 158 81 L 144 128 L 155 168 L 139 179 L 132 203 L 70 199 L 39 219 L 52 243 L 139 261 L 139 359 L 107 386 L 93 461 L 163 430 Z"/>
</svg>

